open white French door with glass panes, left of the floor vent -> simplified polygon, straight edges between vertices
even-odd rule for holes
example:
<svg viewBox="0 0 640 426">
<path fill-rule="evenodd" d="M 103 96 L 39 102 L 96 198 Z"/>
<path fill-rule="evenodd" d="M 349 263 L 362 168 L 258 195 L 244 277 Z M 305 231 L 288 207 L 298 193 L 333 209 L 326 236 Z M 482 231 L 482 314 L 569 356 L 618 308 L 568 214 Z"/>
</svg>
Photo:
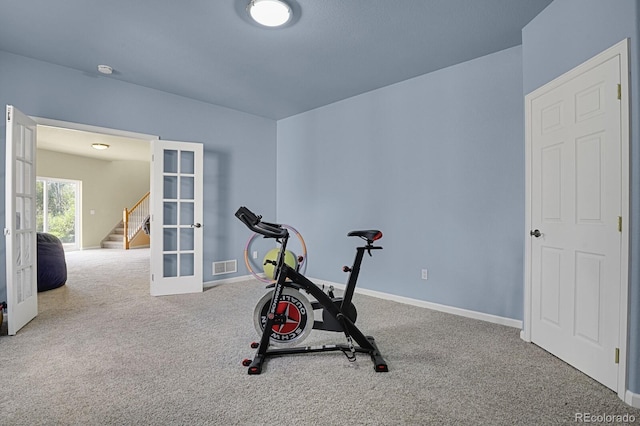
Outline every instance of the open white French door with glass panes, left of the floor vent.
<svg viewBox="0 0 640 426">
<path fill-rule="evenodd" d="M 151 295 L 201 292 L 202 144 L 154 140 L 151 151 Z"/>
</svg>

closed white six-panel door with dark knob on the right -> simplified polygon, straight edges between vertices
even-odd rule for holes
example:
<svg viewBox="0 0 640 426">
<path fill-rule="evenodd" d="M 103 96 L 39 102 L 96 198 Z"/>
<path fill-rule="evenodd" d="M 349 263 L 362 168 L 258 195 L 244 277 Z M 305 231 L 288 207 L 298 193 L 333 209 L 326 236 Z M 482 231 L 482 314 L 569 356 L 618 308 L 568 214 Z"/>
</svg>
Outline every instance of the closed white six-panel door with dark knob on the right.
<svg viewBox="0 0 640 426">
<path fill-rule="evenodd" d="M 530 338 L 617 391 L 628 196 L 621 59 L 588 64 L 527 96 Z"/>
</svg>

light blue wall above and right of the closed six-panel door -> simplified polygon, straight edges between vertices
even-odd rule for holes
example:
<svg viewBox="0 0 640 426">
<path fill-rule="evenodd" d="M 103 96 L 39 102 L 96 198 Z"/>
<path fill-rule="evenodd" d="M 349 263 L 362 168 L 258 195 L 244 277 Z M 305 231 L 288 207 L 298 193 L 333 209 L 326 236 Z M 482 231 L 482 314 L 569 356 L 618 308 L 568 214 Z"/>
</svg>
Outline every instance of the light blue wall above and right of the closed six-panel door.
<svg viewBox="0 0 640 426">
<path fill-rule="evenodd" d="M 522 31 L 529 93 L 619 41 L 630 39 L 631 218 L 629 389 L 640 393 L 640 2 L 556 0 Z"/>
</svg>

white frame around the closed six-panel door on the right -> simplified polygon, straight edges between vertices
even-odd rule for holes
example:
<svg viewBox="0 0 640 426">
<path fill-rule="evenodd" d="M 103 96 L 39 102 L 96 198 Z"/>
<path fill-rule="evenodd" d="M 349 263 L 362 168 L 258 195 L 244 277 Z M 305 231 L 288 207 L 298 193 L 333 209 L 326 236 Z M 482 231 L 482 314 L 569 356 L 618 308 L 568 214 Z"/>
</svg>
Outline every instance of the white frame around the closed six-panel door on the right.
<svg viewBox="0 0 640 426">
<path fill-rule="evenodd" d="M 622 247 L 620 262 L 620 359 L 618 365 L 618 397 L 630 403 L 626 397 L 627 391 L 627 328 L 628 328 L 628 297 L 629 297 L 629 134 L 630 134 L 630 116 L 629 116 L 629 41 L 622 40 L 613 47 L 594 56 L 583 64 L 575 67 L 567 73 L 561 75 L 555 80 L 545 84 L 544 86 L 534 90 L 525 96 L 525 265 L 524 265 L 524 322 L 520 337 L 531 342 L 531 303 L 532 303 L 532 283 L 531 283 L 531 255 L 532 240 L 529 232 L 532 228 L 531 224 L 531 208 L 532 208 L 532 128 L 531 113 L 533 100 L 543 93 L 555 89 L 574 77 L 588 71 L 594 66 L 605 62 L 615 56 L 620 58 L 620 84 L 621 84 L 621 176 L 622 176 Z"/>
</svg>

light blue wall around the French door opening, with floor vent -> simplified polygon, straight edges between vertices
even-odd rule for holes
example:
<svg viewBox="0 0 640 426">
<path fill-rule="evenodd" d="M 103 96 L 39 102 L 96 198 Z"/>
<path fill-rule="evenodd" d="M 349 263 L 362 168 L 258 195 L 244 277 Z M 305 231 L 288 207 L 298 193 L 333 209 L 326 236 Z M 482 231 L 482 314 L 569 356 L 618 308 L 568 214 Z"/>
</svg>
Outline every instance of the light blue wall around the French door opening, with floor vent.
<svg viewBox="0 0 640 426">
<path fill-rule="evenodd" d="M 242 253 L 248 231 L 233 214 L 250 200 L 263 214 L 275 215 L 274 120 L 0 52 L 3 111 L 6 104 L 32 116 L 159 135 L 165 140 L 202 142 L 204 280 L 213 280 L 211 264 L 216 260 L 238 259 L 236 275 L 247 273 Z M 4 146 L 4 120 L 1 126 Z M 0 196 L 4 200 L 4 149 L 0 152 Z M 4 202 L 0 209 L 4 224 Z M 2 277 L 4 259 L 4 244 L 0 244 Z M 5 286 L 0 285 L 3 300 Z"/>
</svg>

